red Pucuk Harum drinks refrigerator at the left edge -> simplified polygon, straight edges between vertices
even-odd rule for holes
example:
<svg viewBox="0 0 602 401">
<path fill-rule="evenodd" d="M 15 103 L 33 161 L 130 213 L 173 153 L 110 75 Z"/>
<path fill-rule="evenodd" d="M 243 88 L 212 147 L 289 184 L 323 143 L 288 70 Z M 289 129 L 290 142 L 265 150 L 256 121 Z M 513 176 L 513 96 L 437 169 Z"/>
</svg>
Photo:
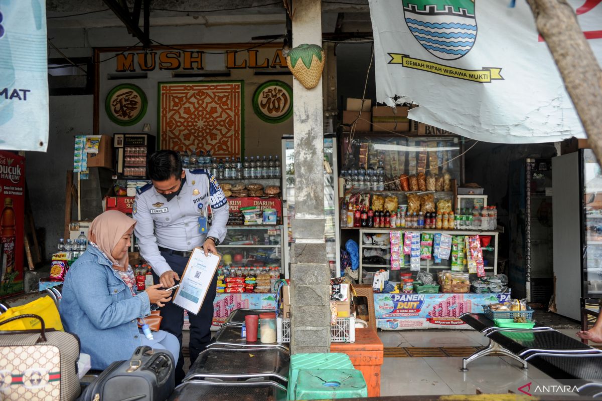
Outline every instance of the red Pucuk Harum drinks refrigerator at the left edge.
<svg viewBox="0 0 602 401">
<path fill-rule="evenodd" d="M 25 158 L 0 151 L 0 298 L 23 292 Z"/>
</svg>

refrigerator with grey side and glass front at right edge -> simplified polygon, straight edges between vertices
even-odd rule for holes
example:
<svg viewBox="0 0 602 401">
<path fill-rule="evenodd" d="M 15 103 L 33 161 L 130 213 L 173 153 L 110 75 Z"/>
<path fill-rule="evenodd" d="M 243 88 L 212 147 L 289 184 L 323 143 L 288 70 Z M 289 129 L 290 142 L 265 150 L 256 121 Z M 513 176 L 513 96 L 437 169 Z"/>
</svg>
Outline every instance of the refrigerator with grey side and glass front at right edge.
<svg viewBox="0 0 602 401">
<path fill-rule="evenodd" d="M 552 159 L 557 313 L 602 298 L 602 170 L 591 149 Z"/>
</svg>

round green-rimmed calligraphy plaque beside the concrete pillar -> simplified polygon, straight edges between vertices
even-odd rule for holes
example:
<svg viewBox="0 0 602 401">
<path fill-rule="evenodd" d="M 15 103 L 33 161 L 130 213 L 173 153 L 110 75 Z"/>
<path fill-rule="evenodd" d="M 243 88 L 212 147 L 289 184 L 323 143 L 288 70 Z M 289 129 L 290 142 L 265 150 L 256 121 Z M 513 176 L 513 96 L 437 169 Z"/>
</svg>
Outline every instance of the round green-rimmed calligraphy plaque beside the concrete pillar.
<svg viewBox="0 0 602 401">
<path fill-rule="evenodd" d="M 293 114 L 293 90 L 282 81 L 265 82 L 253 94 L 253 110 L 267 123 L 282 123 Z"/>
</svg>

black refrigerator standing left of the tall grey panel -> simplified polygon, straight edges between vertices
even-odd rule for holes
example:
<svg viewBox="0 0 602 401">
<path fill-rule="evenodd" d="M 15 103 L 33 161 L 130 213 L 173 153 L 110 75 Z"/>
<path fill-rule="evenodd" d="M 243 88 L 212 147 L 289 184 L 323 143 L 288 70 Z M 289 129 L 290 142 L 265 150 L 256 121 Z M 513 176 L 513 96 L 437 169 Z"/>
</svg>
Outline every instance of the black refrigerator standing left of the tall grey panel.
<svg viewBox="0 0 602 401">
<path fill-rule="evenodd" d="M 551 159 L 512 164 L 509 195 L 512 295 L 548 305 L 554 290 Z"/>
</svg>

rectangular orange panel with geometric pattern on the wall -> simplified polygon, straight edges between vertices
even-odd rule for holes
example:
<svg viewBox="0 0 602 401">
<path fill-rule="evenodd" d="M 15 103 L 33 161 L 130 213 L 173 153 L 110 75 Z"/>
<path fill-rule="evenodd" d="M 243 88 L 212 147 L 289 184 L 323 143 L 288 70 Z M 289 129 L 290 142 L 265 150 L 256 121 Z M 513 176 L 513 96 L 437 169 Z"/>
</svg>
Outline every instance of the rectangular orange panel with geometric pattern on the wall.
<svg viewBox="0 0 602 401">
<path fill-rule="evenodd" d="M 208 150 L 238 157 L 243 141 L 243 81 L 160 82 L 161 149 Z"/>
</svg>

